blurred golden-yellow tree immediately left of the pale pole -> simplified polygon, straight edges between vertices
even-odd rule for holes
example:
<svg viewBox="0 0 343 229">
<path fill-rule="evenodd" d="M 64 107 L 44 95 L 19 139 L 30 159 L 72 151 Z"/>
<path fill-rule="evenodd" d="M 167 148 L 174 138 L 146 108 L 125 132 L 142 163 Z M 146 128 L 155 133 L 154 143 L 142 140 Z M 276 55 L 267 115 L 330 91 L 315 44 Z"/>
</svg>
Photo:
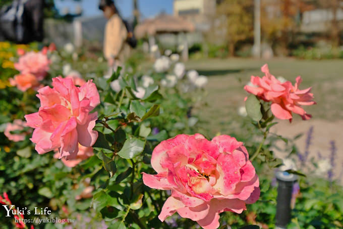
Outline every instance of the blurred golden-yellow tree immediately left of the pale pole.
<svg viewBox="0 0 343 229">
<path fill-rule="evenodd" d="M 237 42 L 253 36 L 253 0 L 223 0 L 220 1 L 217 12 L 218 21 L 226 30 L 228 49 L 234 55 Z"/>
</svg>

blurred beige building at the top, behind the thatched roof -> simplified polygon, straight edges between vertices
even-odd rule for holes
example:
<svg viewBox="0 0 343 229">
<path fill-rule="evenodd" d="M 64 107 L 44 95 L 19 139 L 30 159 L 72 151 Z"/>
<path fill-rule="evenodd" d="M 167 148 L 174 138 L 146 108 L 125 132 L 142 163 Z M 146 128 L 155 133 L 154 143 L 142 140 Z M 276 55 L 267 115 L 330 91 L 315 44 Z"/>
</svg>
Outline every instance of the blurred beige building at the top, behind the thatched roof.
<svg viewBox="0 0 343 229">
<path fill-rule="evenodd" d="M 196 30 L 208 31 L 216 12 L 216 0 L 174 0 L 174 15 L 191 21 Z"/>
</svg>

